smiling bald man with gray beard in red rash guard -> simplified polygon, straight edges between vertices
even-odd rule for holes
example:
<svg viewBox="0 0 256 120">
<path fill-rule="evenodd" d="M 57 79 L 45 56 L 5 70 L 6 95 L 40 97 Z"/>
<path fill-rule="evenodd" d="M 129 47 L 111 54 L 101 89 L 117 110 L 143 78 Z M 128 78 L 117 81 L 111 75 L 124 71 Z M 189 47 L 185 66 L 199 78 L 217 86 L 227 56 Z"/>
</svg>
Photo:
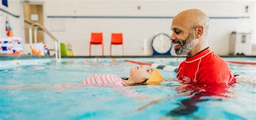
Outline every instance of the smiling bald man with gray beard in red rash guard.
<svg viewBox="0 0 256 120">
<path fill-rule="evenodd" d="M 172 20 L 171 40 L 177 55 L 187 55 L 177 71 L 177 78 L 189 84 L 226 84 L 235 82 L 228 64 L 207 45 L 209 18 L 198 10 L 178 13 Z"/>
</svg>

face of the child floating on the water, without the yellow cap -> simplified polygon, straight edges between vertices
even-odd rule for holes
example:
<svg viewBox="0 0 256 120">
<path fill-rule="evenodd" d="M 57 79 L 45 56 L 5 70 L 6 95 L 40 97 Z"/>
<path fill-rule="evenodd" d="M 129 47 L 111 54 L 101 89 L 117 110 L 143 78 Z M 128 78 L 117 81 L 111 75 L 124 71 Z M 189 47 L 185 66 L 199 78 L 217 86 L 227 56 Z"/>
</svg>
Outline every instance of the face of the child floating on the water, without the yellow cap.
<svg viewBox="0 0 256 120">
<path fill-rule="evenodd" d="M 145 68 L 144 66 L 133 67 L 130 69 L 130 79 L 133 79 L 135 83 L 142 83 L 149 79 L 152 73 L 152 68 Z"/>
</svg>

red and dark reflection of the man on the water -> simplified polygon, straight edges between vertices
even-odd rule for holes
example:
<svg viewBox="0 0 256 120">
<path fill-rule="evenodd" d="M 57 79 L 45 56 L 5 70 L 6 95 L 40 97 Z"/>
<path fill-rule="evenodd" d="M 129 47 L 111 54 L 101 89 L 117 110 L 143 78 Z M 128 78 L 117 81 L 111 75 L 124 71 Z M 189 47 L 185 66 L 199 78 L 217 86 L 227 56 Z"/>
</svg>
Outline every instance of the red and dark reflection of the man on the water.
<svg viewBox="0 0 256 120">
<path fill-rule="evenodd" d="M 170 110 L 166 116 L 178 117 L 183 115 L 192 115 L 198 110 L 198 103 L 206 101 L 222 101 L 221 97 L 228 97 L 225 94 L 227 93 L 229 87 L 230 86 L 226 86 L 226 84 L 183 84 L 175 87 L 178 94 L 191 97 L 181 100 L 179 106 L 173 110 Z M 219 98 L 205 98 L 211 96 L 217 96 Z"/>
</svg>

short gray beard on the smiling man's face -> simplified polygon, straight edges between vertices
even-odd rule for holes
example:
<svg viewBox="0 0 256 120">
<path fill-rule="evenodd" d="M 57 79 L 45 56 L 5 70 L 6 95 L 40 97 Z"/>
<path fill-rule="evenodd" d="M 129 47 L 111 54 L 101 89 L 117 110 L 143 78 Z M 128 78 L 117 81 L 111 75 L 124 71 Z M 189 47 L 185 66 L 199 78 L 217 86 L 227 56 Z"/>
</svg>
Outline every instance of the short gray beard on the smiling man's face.
<svg viewBox="0 0 256 120">
<path fill-rule="evenodd" d="M 177 55 L 187 55 L 194 46 L 197 45 L 197 39 L 194 39 L 193 33 L 188 34 L 187 39 L 180 43 L 181 47 L 175 50 Z"/>
</svg>

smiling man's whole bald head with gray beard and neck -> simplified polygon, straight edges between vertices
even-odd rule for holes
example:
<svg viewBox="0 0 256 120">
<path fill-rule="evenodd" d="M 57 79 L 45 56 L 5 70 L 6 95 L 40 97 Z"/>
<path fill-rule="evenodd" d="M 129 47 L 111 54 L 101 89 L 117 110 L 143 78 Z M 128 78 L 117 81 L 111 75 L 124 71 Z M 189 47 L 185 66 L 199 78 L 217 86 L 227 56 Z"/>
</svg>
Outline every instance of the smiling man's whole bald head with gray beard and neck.
<svg viewBox="0 0 256 120">
<path fill-rule="evenodd" d="M 198 9 L 185 10 L 175 16 L 171 40 L 176 54 L 190 57 L 206 48 L 208 28 L 209 18 Z"/>
</svg>

